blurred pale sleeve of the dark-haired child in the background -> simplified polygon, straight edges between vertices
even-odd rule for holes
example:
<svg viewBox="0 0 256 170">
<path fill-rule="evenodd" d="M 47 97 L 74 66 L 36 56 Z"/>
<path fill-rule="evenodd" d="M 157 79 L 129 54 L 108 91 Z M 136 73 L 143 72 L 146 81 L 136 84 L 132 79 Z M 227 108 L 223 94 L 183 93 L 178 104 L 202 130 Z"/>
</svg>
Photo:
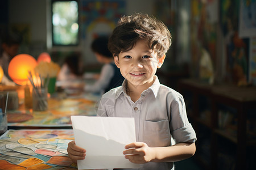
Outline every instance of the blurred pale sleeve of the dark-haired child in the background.
<svg viewBox="0 0 256 170">
<path fill-rule="evenodd" d="M 97 82 L 94 84 L 86 84 L 84 90 L 88 92 L 101 92 L 108 86 L 113 76 L 113 67 L 110 64 L 104 65 L 101 69 L 100 78 L 97 80 Z"/>
</svg>

